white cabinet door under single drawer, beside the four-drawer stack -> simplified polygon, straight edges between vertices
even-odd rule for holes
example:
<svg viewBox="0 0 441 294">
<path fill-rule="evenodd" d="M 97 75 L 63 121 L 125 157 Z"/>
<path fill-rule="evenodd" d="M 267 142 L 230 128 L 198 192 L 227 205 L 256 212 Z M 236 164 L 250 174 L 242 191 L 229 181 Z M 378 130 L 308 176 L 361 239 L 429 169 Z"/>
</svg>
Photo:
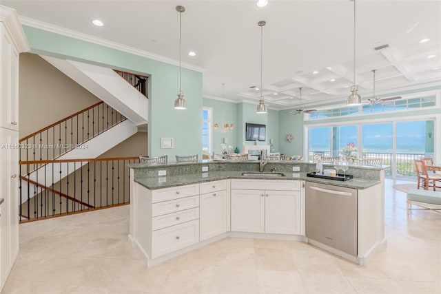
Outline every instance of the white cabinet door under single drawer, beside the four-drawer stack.
<svg viewBox="0 0 441 294">
<path fill-rule="evenodd" d="M 227 231 L 227 191 L 201 194 L 199 229 L 201 241 Z"/>
</svg>

